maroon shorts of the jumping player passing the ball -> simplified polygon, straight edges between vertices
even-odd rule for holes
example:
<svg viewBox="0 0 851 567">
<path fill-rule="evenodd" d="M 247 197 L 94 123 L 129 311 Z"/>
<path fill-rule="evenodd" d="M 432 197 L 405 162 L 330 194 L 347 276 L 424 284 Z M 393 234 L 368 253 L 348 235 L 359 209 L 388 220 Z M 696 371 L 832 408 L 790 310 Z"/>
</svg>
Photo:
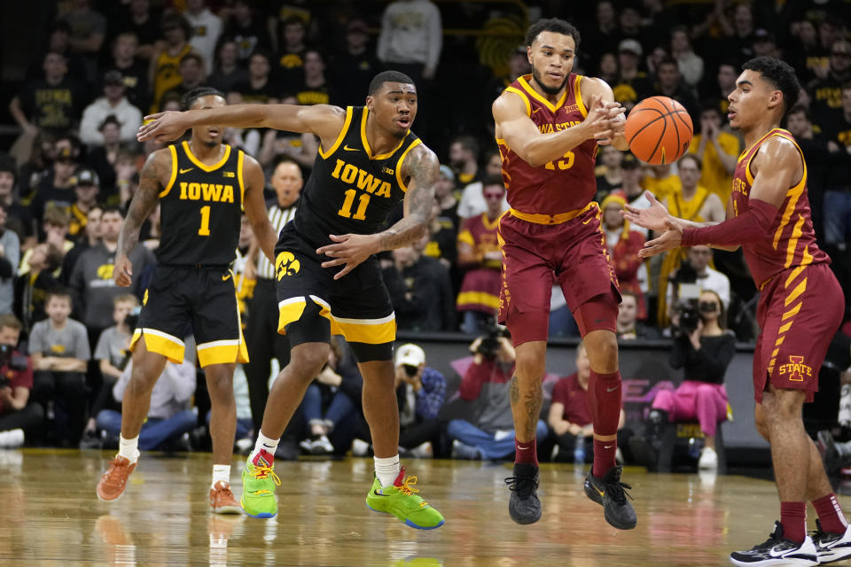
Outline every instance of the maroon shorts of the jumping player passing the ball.
<svg viewBox="0 0 851 567">
<path fill-rule="evenodd" d="M 597 203 L 568 221 L 558 222 L 557 217 L 556 223 L 544 224 L 547 217 L 542 217 L 511 211 L 499 222 L 503 250 L 499 321 L 508 326 L 514 345 L 547 339 L 556 281 L 582 337 L 592 330 L 614 331 L 621 293 L 605 249 Z"/>
</svg>

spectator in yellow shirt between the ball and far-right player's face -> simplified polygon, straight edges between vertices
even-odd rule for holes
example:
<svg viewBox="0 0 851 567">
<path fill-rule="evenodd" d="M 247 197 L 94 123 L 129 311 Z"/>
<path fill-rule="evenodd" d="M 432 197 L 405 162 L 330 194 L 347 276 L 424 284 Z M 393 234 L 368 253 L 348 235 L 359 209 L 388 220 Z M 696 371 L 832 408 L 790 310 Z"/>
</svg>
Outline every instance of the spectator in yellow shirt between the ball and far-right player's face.
<svg viewBox="0 0 851 567">
<path fill-rule="evenodd" d="M 691 138 L 689 152 L 697 155 L 702 165 L 700 184 L 726 203 L 741 150 L 738 137 L 722 132 L 721 126 L 717 106 L 705 105 L 700 111 L 700 134 Z"/>
</svg>

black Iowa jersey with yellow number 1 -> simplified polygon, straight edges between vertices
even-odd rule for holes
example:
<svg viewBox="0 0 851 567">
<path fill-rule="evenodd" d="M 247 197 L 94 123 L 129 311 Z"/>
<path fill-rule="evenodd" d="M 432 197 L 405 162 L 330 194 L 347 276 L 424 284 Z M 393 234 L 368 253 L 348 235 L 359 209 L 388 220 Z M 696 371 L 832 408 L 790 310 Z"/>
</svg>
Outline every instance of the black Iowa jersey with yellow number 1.
<svg viewBox="0 0 851 567">
<path fill-rule="evenodd" d="M 160 193 L 161 264 L 227 266 L 236 257 L 245 195 L 245 154 L 223 145 L 218 163 L 207 166 L 189 143 L 168 146 L 171 178 Z"/>
</svg>

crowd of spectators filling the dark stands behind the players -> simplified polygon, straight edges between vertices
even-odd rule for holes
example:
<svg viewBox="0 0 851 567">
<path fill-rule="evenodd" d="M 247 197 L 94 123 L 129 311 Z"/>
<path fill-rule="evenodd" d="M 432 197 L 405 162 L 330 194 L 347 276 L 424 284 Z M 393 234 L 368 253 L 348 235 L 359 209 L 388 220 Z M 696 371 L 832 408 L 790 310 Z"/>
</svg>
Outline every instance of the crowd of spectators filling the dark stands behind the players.
<svg viewBox="0 0 851 567">
<path fill-rule="evenodd" d="M 489 107 L 502 89 L 530 72 L 520 44 L 525 22 L 518 24 L 519 19 L 558 16 L 576 23 L 582 41 L 574 72 L 605 79 L 627 109 L 662 94 L 691 114 L 695 135 L 678 163 L 647 166 L 612 147 L 598 154 L 605 246 L 624 299 L 619 338 L 676 338 L 680 311 L 697 307 L 703 291 L 714 292 L 739 341 L 753 340 L 758 331 L 757 291 L 740 252 L 698 246 L 643 261 L 636 252 L 652 235 L 620 215 L 627 204 L 649 206 L 644 191 L 650 190 L 678 216 L 722 220 L 731 175 L 744 150 L 727 124 L 726 97 L 735 88 L 739 66 L 757 55 L 782 57 L 796 68 L 801 102 L 786 127 L 808 161 L 820 244 L 831 254 L 844 288 L 851 289 L 848 4 L 574 4 L 532 1 L 526 12 L 511 13 L 513 4 L 471 3 L 456 10 L 455 4 L 431 0 L 321 6 L 304 0 L 57 2 L 43 51 L 32 54 L 26 80 L 9 103 L 20 136 L 0 155 L 0 339 L 20 356 L 29 355 L 19 384 L 31 389 L 27 396 L 18 388 L 0 390 L 0 430 L 25 428 L 33 431 L 34 442 L 59 445 L 97 446 L 114 435 L 129 366 L 132 315 L 125 319 L 143 299 L 160 235 L 156 211 L 131 254 L 133 286 L 115 287 L 112 268 L 122 216 L 144 159 L 161 147 L 153 140 L 138 144 L 137 128 L 145 114 L 180 109 L 183 95 L 202 84 L 221 89 L 231 104 L 360 105 L 379 70 L 409 74 L 420 96 L 414 130 L 442 165 L 428 236 L 381 259 L 398 327 L 487 334 L 501 282 L 496 227 L 508 208 Z M 449 28 L 482 29 L 494 20 L 513 21 L 516 30 L 478 40 L 449 33 Z M 316 139 L 229 128 L 225 140 L 266 170 L 270 216 L 292 218 L 316 157 Z M 400 207 L 388 222 L 401 214 Z M 274 267 L 258 253 L 248 227 L 240 238 L 238 264 L 235 281 L 252 364 L 239 369 L 235 387 L 247 382 L 250 391 L 238 435 L 248 437 L 274 375 L 269 360 L 283 365 L 288 354 L 285 339 L 270 338 L 274 308 L 264 307 L 274 304 Z M 20 342 L 12 345 L 15 333 Z M 558 286 L 550 336 L 578 336 Z M 492 456 L 511 444 L 504 395 L 511 376 L 510 341 L 499 344 L 504 352 L 477 359 L 472 367 L 477 370 L 462 377 L 460 395 L 470 401 L 486 396 L 494 404 L 505 400 L 478 420 L 449 423 L 448 439 L 441 439 L 445 424 L 437 433 L 434 429 L 446 381 L 423 370 L 429 369 L 421 349 L 405 352 L 397 384 L 407 450 Z M 4 360 L 11 365 L 23 359 Z M 184 447 L 195 426 L 205 422 L 203 401 L 190 402 L 206 393 L 195 391 L 191 359 L 172 366 L 154 392 L 160 404 L 152 405 L 148 432 L 143 431 L 151 447 Z M 305 451 L 347 447 L 351 439 L 338 439 L 340 431 L 350 429 L 340 427 L 343 421 L 354 420 L 360 425 L 351 431 L 363 431 L 360 379 L 345 344 L 335 346 L 308 390 L 301 430 L 293 433 Z M 582 373 L 574 383 L 571 388 L 582 386 Z M 25 425 L 7 427 L 10 413 L 15 415 L 10 423 Z M 584 426 L 549 417 L 558 436 Z M 368 436 L 365 431 L 360 437 L 368 442 Z M 203 445 L 196 438 L 191 443 Z M 558 447 L 573 450 L 575 443 L 558 439 Z"/>
</svg>

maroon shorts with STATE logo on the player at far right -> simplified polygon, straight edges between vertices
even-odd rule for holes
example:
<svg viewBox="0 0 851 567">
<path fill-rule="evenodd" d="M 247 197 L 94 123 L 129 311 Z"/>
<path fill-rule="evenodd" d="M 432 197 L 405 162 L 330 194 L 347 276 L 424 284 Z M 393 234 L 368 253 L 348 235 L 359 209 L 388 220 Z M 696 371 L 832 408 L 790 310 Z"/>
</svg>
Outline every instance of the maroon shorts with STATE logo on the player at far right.
<svg viewBox="0 0 851 567">
<path fill-rule="evenodd" d="M 826 263 L 797 266 L 774 276 L 756 310 L 760 338 L 753 351 L 753 398 L 769 385 L 818 390 L 818 371 L 845 312 L 842 288 Z"/>
</svg>

